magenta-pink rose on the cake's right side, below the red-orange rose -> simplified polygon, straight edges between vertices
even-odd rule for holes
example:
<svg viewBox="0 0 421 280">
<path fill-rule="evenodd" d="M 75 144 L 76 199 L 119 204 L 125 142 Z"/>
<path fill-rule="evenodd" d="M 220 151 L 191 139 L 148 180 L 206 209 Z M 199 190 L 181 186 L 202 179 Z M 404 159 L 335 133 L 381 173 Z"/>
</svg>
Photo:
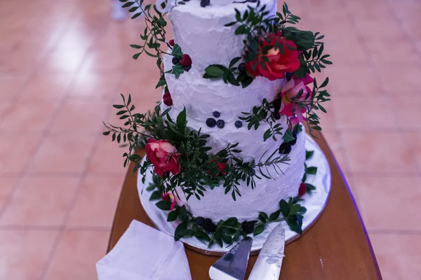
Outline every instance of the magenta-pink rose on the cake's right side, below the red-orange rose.
<svg viewBox="0 0 421 280">
<path fill-rule="evenodd" d="M 281 90 L 281 109 L 279 113 L 287 116 L 290 120 L 293 120 L 294 123 L 298 120 L 302 123 L 304 120 L 303 114 L 307 111 L 305 106 L 300 106 L 299 104 L 307 103 L 312 99 L 312 90 L 307 86 L 309 83 L 313 83 L 313 78 L 307 73 L 305 78 L 297 78 L 293 76 L 285 85 L 283 85 Z M 298 93 L 302 90 L 300 98 Z M 309 94 L 308 98 L 307 94 Z M 293 119 L 298 118 L 298 119 Z"/>
</svg>

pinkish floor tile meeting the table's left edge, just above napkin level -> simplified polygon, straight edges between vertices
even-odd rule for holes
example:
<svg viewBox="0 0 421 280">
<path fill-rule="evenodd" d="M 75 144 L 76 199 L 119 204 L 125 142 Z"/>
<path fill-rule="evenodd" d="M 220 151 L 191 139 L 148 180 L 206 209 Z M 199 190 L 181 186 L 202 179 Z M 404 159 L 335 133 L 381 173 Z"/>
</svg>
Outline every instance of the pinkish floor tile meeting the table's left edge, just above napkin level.
<svg viewBox="0 0 421 280">
<path fill-rule="evenodd" d="M 122 183 L 121 177 L 87 176 L 67 225 L 111 228 Z"/>
</svg>

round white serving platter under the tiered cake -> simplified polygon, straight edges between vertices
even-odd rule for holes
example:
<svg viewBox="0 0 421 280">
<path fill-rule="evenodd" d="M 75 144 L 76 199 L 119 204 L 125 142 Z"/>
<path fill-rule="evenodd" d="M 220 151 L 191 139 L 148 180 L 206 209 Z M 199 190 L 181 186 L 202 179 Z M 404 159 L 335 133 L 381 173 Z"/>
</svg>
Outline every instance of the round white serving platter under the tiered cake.
<svg viewBox="0 0 421 280">
<path fill-rule="evenodd" d="M 300 204 L 302 207 L 307 208 L 302 220 L 303 234 L 312 227 L 317 218 L 321 215 L 330 193 L 330 168 L 326 156 L 323 154 L 323 151 L 321 151 L 319 145 L 316 144 L 316 141 L 314 141 L 314 139 L 312 139 L 312 137 L 308 134 L 305 148 L 307 151 L 314 151 L 314 155 L 309 160 L 306 160 L 306 164 L 307 166 L 317 167 L 317 172 L 314 175 L 307 176 L 307 180 L 305 181 L 306 183 L 311 183 L 315 186 L 316 190 L 313 190 L 312 193 L 306 193 L 301 197 L 303 201 L 300 202 Z M 138 174 L 138 192 L 140 203 L 155 228 L 161 230 L 161 232 L 165 232 L 167 235 L 174 236 L 175 228 L 177 228 L 179 222 L 174 221 L 168 223 L 166 221 L 168 211 L 159 209 L 156 207 L 155 201 L 149 200 L 152 193 L 146 190 L 149 183 L 152 183 L 152 175 L 149 174 L 149 172 L 147 172 L 145 184 L 142 183 L 142 176 Z M 302 236 L 290 230 L 285 221 L 279 223 L 285 224 L 286 244 Z M 253 246 L 251 247 L 252 255 L 259 253 L 263 244 L 265 244 L 267 236 L 279 223 L 269 223 L 266 225 L 265 231 L 263 231 L 260 235 L 250 235 L 250 237 L 253 237 Z M 199 253 L 204 253 L 206 255 L 223 255 L 229 251 L 232 246 L 234 246 L 234 244 L 232 246 L 226 246 L 227 244 L 225 244 L 221 248 L 217 244 L 213 244 L 213 246 L 208 248 L 208 244 L 196 239 L 196 237 L 182 238 L 180 241 L 182 241 L 187 248 L 191 248 L 194 251 L 198 251 Z"/>
</svg>

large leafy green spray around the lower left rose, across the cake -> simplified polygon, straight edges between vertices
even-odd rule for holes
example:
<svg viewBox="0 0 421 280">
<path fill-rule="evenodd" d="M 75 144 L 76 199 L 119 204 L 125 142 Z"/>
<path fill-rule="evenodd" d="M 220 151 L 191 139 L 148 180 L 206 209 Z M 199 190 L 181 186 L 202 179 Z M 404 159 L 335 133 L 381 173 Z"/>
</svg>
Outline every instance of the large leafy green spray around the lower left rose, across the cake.
<svg viewBox="0 0 421 280">
<path fill-rule="evenodd" d="M 181 172 L 175 175 L 169 172 L 163 174 L 163 191 L 166 193 L 176 192 L 176 188 L 180 187 L 187 199 L 194 195 L 200 200 L 206 191 L 206 186 L 212 189 L 222 184 L 225 194 L 231 193 L 232 199 L 236 200 L 236 196 L 241 196 L 238 188 L 241 181 L 246 182 L 250 188 L 255 188 L 255 179 L 262 177 L 272 179 L 269 167 L 276 174 L 280 174 L 282 172 L 280 165 L 288 164 L 290 160 L 288 155 L 277 155 L 275 148 L 265 160 L 263 158 L 266 153 L 258 161 L 245 162 L 239 158 L 241 150 L 237 148 L 238 143 L 229 144 L 217 153 L 208 153 L 211 150 L 207 146 L 207 139 L 210 136 L 187 126 L 185 109 L 178 114 L 176 120 L 169 115 L 170 109 L 161 113 L 160 104 L 149 115 L 133 113 L 135 106 L 131 104 L 131 95 L 129 94 L 127 101 L 122 94 L 121 97 L 123 104 L 113 106 L 119 109 L 116 114 L 121 120 L 126 120 L 126 123 L 124 127 L 104 123 L 107 131 L 103 134 L 111 136 L 112 141 L 128 145 L 128 153 L 123 154 L 124 166 L 132 161 L 135 163 L 133 172 L 140 169 L 143 175 L 149 167 L 152 167 L 152 162 L 145 160 L 142 163 L 142 157 L 135 154 L 138 146 L 145 148 L 148 138 L 166 140 L 175 146 L 177 153 L 180 154 L 178 162 Z M 218 163 L 225 165 L 224 174 L 220 172 Z M 256 174 L 256 171 L 259 174 Z M 178 193 L 176 195 L 180 196 Z"/>
</svg>

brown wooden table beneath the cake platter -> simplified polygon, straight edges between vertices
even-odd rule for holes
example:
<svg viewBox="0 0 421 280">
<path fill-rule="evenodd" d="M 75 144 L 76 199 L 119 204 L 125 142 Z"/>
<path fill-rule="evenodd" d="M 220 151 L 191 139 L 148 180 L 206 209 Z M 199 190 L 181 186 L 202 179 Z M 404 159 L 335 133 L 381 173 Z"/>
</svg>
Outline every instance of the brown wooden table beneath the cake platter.
<svg viewBox="0 0 421 280">
<path fill-rule="evenodd" d="M 280 279 L 382 279 L 366 228 L 342 172 L 323 136 L 318 133 L 317 137 L 330 164 L 332 190 L 319 221 L 300 239 L 286 246 Z M 133 219 L 152 226 L 140 205 L 132 169 L 126 174 L 121 190 L 107 251 L 119 241 Z M 192 279 L 209 279 L 208 269 L 218 257 L 189 249 L 186 253 Z M 250 257 L 247 275 L 256 258 Z"/>
</svg>

